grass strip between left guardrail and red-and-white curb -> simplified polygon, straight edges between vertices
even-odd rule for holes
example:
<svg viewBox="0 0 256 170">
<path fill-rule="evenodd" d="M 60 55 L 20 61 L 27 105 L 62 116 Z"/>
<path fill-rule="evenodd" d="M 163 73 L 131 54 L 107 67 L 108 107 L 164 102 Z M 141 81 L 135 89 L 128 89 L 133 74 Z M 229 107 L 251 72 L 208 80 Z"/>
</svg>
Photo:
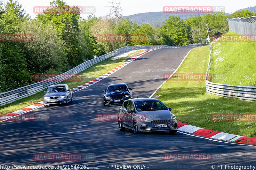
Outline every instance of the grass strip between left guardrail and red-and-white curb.
<svg viewBox="0 0 256 170">
<path fill-rule="evenodd" d="M 141 50 L 141 51 L 145 51 L 145 49 Z M 97 64 L 94 64 L 92 67 L 89 67 L 88 69 L 80 72 L 80 74 L 83 74 L 82 81 L 62 81 L 60 84 L 62 84 L 62 83 L 67 84 L 70 88 L 74 88 L 79 85 L 83 85 L 84 83 L 87 83 L 87 82 L 93 80 L 94 78 L 97 78 L 97 77 L 101 76 L 102 74 L 114 69 L 118 65 L 124 63 L 125 61 L 127 61 L 127 58 L 130 58 L 132 55 L 134 55 L 138 52 L 140 52 L 140 51 L 133 52 L 133 53 L 129 54 L 127 57 L 119 58 L 116 60 L 111 60 L 112 57 L 109 57 L 106 60 L 103 60 Z M 44 94 L 45 94 L 44 92 L 38 92 L 34 95 L 31 95 L 26 98 L 16 100 L 10 104 L 1 106 L 0 107 L 0 115 L 3 116 L 8 113 L 12 113 L 13 111 L 19 110 L 21 108 L 24 108 L 29 105 L 35 104 L 39 101 L 42 101 Z"/>
</svg>

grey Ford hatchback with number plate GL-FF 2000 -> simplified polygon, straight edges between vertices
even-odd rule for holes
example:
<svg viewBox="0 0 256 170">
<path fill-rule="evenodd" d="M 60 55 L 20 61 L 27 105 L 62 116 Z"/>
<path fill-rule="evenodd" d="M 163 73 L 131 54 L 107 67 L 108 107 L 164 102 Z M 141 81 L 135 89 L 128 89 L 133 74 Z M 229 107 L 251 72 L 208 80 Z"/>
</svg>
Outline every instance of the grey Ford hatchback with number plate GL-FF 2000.
<svg viewBox="0 0 256 170">
<path fill-rule="evenodd" d="M 153 98 L 137 98 L 125 100 L 118 113 L 119 130 L 125 128 L 134 133 L 149 131 L 177 132 L 177 120 L 164 103 Z"/>
</svg>

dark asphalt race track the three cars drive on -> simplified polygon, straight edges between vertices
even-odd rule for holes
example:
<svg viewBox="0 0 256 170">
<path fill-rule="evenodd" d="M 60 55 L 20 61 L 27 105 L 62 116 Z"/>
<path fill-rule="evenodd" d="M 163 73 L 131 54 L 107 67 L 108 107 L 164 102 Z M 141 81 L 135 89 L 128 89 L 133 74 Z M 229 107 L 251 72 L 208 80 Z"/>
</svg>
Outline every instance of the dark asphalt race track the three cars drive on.
<svg viewBox="0 0 256 170">
<path fill-rule="evenodd" d="M 28 113 L 44 117 L 36 121 L 0 123 L 1 165 L 145 165 L 145 169 L 212 169 L 212 165 L 254 165 L 256 148 L 221 143 L 182 133 L 135 135 L 119 131 L 115 121 L 98 121 L 97 114 L 118 113 L 119 106 L 103 107 L 103 92 L 109 84 L 128 83 L 133 97 L 149 97 L 161 85 L 164 73 L 172 73 L 193 47 L 151 51 L 104 78 L 75 92 L 68 106 L 40 107 Z M 175 114 L 175 113 L 174 113 Z M 212 160 L 164 160 L 164 153 L 211 153 Z M 82 153 L 80 161 L 36 161 L 36 153 Z M 91 155 L 87 158 L 86 155 Z M 95 157 L 93 157 L 93 155 Z M 142 166 L 143 167 L 143 166 Z M 133 169 L 133 168 L 132 168 Z M 139 168 L 142 169 L 142 168 Z M 220 169 L 220 168 L 219 168 Z M 224 169 L 224 166 L 223 166 Z"/>
</svg>

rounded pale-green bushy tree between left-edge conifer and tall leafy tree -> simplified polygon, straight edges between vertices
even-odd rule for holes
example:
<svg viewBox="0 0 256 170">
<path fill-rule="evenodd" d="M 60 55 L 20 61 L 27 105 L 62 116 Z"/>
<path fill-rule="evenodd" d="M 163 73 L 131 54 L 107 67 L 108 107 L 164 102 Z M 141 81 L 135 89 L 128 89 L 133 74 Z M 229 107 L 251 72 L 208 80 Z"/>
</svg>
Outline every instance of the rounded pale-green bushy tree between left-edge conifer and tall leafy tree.
<svg viewBox="0 0 256 170">
<path fill-rule="evenodd" d="M 35 73 L 63 73 L 68 70 L 64 41 L 51 23 L 41 24 L 36 19 L 23 25 L 21 33 L 34 35 L 32 42 L 23 42 L 23 53 L 29 71 Z"/>
</svg>

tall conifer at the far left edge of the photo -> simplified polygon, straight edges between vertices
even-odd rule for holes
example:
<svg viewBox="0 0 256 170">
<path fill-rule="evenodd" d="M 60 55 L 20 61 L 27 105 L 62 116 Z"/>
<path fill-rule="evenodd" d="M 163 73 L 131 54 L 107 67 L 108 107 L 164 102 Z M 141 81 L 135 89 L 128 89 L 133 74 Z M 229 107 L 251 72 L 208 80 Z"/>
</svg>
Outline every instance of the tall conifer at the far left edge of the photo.
<svg viewBox="0 0 256 170">
<path fill-rule="evenodd" d="M 1 15 L 0 25 L 2 33 L 17 34 L 20 28 L 28 21 L 28 15 L 25 14 L 22 5 L 9 0 L 4 6 L 4 13 Z M 6 83 L 5 89 L 1 91 L 9 91 L 24 85 L 32 83 L 32 78 L 28 72 L 25 55 L 20 49 L 21 42 L 3 42 L 1 60 L 1 79 Z"/>
</svg>

